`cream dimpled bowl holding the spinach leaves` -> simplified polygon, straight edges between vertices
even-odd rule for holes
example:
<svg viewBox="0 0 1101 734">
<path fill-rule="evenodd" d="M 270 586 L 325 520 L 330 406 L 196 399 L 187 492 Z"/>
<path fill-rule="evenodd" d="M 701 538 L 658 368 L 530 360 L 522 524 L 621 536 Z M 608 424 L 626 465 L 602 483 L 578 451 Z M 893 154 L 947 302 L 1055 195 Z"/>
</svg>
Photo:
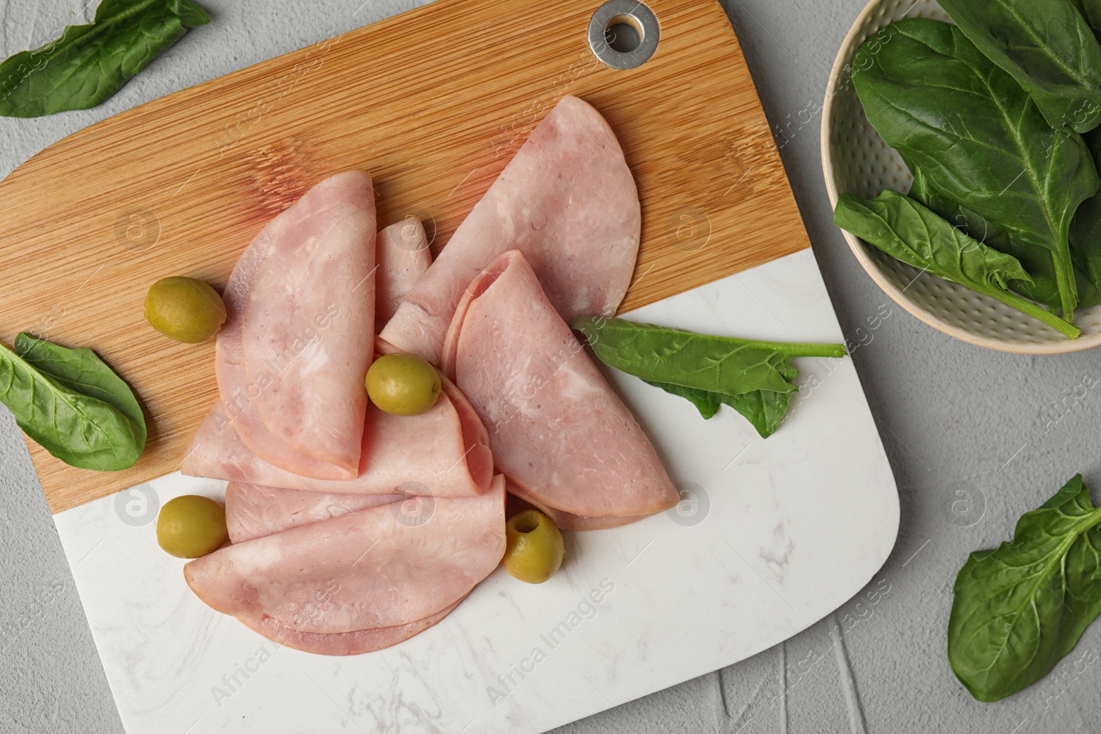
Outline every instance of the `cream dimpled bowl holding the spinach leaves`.
<svg viewBox="0 0 1101 734">
<path fill-rule="evenodd" d="M 871 35 L 906 18 L 947 21 L 933 0 L 872 0 L 853 23 L 830 70 L 822 105 L 822 172 L 830 206 L 842 193 L 862 198 L 884 188 L 905 194 L 914 177 L 897 151 L 872 128 L 852 84 L 852 57 Z M 890 41 L 887 42 L 890 43 Z M 844 239 L 872 280 L 896 304 L 947 335 L 1021 354 L 1055 354 L 1101 346 L 1101 305 L 1075 311 L 1082 333 L 1067 339 L 1031 316 L 961 285 L 907 265 L 849 232 Z"/>
</svg>

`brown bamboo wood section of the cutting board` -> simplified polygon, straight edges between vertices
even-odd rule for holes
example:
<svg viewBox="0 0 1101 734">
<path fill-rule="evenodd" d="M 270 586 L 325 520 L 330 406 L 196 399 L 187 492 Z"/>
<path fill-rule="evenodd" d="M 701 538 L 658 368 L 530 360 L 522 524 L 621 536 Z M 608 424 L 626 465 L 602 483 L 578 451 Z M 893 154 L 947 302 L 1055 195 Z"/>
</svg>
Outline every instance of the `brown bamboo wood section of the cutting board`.
<svg viewBox="0 0 1101 734">
<path fill-rule="evenodd" d="M 222 288 L 238 255 L 320 178 L 363 168 L 380 227 L 427 216 L 438 251 L 565 94 L 623 145 L 642 245 L 622 309 L 809 245 L 722 9 L 651 0 L 654 56 L 591 54 L 595 0 L 437 0 L 105 120 L 0 183 L 0 339 L 94 348 L 150 425 L 133 468 L 66 467 L 28 441 L 52 512 L 174 471 L 216 397 L 214 344 L 142 317 L 160 277 Z M 523 21 L 522 26 L 520 21 Z"/>
</svg>

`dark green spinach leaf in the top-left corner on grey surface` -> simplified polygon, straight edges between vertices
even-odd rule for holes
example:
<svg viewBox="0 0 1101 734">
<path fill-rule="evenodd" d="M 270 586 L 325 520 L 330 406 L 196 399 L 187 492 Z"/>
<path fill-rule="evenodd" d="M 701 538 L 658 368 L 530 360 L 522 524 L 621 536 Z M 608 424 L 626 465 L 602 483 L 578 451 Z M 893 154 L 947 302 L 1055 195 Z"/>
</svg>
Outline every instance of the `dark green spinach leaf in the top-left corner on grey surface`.
<svg viewBox="0 0 1101 734">
<path fill-rule="evenodd" d="M 103 0 L 95 22 L 0 64 L 0 114 L 33 118 L 108 99 L 174 44 L 210 21 L 192 0 Z"/>
</svg>

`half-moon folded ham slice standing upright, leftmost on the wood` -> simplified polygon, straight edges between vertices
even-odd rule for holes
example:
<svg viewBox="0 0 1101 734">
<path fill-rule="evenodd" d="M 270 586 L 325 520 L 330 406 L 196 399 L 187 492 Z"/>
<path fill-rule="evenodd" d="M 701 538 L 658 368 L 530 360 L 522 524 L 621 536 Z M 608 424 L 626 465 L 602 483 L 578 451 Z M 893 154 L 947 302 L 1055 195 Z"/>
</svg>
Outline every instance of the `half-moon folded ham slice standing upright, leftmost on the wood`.
<svg viewBox="0 0 1101 734">
<path fill-rule="evenodd" d="M 230 275 L 219 395 L 241 440 L 287 471 L 318 479 L 358 471 L 374 237 L 371 179 L 349 171 L 269 222 Z"/>
</svg>

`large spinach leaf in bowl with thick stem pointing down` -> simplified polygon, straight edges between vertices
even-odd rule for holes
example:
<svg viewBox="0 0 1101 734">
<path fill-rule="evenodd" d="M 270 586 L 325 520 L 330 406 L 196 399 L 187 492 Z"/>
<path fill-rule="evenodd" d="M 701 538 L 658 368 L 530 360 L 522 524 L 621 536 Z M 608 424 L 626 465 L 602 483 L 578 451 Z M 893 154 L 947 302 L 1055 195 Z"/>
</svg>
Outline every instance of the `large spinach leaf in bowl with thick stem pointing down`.
<svg viewBox="0 0 1101 734">
<path fill-rule="evenodd" d="M 853 66 L 869 120 L 929 184 L 1050 251 L 1064 317 L 1072 320 L 1068 228 L 1101 186 L 1081 135 L 1053 130 L 1013 77 L 947 23 L 893 23 L 861 46 Z"/>
</svg>

